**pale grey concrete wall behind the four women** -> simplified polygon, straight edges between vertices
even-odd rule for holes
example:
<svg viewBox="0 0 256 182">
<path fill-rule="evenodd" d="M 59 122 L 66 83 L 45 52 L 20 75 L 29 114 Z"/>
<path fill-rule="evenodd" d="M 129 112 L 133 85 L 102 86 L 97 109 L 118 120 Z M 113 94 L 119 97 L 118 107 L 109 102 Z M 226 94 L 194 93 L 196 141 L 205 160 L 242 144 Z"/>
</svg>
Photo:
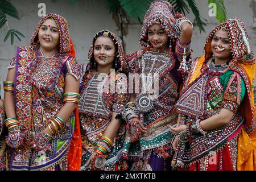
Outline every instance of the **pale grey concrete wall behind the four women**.
<svg viewBox="0 0 256 182">
<path fill-rule="evenodd" d="M 85 63 L 88 50 L 93 36 L 97 31 L 109 29 L 119 35 L 118 28 L 105 8 L 105 0 L 80 0 L 77 5 L 70 5 L 69 0 L 36 0 L 36 1 L 18 1 L 12 0 L 14 6 L 18 9 L 20 20 L 8 17 L 9 27 L 19 30 L 26 36 L 21 42 L 15 40 L 14 44 L 10 44 L 10 40 L 3 42 L 7 27 L 0 29 L 0 84 L 6 79 L 7 65 L 15 54 L 16 46 L 27 45 L 30 42 L 32 31 L 40 17 L 38 16 L 38 4 L 43 2 L 46 4 L 46 13 L 56 13 L 64 16 L 68 20 L 69 30 L 76 49 L 77 60 L 79 63 Z M 195 26 L 192 37 L 192 48 L 194 50 L 192 57 L 203 54 L 203 46 L 209 32 L 217 25 L 218 21 L 214 17 L 208 15 L 209 7 L 207 0 L 195 0 L 200 10 L 200 15 L 207 19 L 205 31 L 200 34 L 199 28 Z M 236 15 L 245 22 L 247 32 L 250 36 L 251 46 L 256 51 L 256 0 L 225 0 L 225 7 L 228 18 Z M 193 14 L 187 17 L 194 22 Z M 141 24 L 131 23 L 128 27 L 128 34 L 124 37 L 126 53 L 130 53 L 140 48 L 139 32 Z M 1 96 L 3 97 L 3 86 L 1 86 Z"/>
</svg>

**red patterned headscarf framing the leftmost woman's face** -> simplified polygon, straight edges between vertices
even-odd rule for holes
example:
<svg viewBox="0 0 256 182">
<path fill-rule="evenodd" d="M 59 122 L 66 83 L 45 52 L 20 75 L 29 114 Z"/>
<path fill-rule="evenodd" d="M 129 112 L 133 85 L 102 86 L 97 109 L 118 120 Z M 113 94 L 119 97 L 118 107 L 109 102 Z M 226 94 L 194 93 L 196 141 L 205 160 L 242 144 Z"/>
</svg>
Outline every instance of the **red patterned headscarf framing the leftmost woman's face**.
<svg viewBox="0 0 256 182">
<path fill-rule="evenodd" d="M 59 33 L 60 33 L 60 53 L 68 53 L 69 51 L 72 51 L 72 47 L 71 47 L 71 38 L 69 36 L 69 30 L 68 30 L 68 22 L 67 20 L 65 20 L 65 18 L 63 18 L 60 15 L 57 14 L 47 14 L 45 16 L 43 16 L 42 19 L 40 19 L 38 26 L 36 26 L 35 31 L 32 35 L 31 38 L 31 45 L 39 45 L 38 42 L 38 32 L 40 27 L 42 26 L 43 22 L 48 19 L 51 18 L 53 20 L 55 20 L 57 27 L 59 29 Z M 72 54 L 74 55 L 74 52 L 72 52 Z"/>
</svg>

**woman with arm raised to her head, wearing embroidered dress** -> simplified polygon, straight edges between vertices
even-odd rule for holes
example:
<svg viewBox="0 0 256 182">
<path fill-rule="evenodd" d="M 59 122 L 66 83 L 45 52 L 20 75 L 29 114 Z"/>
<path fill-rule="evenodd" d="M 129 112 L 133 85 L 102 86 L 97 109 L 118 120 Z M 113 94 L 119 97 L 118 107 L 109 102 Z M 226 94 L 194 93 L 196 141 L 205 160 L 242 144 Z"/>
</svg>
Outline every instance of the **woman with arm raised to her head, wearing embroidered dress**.
<svg viewBox="0 0 256 182">
<path fill-rule="evenodd" d="M 192 30 L 192 23 L 175 13 L 170 3 L 154 1 L 141 30 L 144 48 L 126 56 L 136 80 L 129 79 L 135 90 L 131 90 L 134 94 L 123 111 L 128 123 L 125 148 L 133 159 L 131 170 L 170 169 L 174 135 L 168 126 L 177 122 L 175 104 L 183 80 L 178 69 L 186 66 Z M 137 76 L 142 78 L 141 84 Z"/>
</svg>

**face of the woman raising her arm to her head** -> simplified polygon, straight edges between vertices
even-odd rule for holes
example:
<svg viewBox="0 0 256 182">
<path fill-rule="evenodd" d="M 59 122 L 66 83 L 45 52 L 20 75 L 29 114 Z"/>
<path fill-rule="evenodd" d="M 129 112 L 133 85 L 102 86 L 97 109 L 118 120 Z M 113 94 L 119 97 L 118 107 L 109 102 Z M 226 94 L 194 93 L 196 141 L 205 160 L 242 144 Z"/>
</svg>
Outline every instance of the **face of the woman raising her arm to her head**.
<svg viewBox="0 0 256 182">
<path fill-rule="evenodd" d="M 168 47 L 168 36 L 160 24 L 153 24 L 148 28 L 148 40 L 156 50 L 163 50 Z"/>
</svg>

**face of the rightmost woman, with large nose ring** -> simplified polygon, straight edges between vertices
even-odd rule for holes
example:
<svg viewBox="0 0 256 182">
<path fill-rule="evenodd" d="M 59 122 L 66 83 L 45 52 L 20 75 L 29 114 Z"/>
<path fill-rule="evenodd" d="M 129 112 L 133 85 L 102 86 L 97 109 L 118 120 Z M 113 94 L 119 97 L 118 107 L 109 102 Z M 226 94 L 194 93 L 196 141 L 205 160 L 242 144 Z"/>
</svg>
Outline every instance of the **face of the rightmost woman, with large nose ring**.
<svg viewBox="0 0 256 182">
<path fill-rule="evenodd" d="M 229 61 L 231 56 L 230 47 L 228 32 L 218 30 L 210 44 L 215 59 L 221 60 L 222 63 Z"/>
</svg>

